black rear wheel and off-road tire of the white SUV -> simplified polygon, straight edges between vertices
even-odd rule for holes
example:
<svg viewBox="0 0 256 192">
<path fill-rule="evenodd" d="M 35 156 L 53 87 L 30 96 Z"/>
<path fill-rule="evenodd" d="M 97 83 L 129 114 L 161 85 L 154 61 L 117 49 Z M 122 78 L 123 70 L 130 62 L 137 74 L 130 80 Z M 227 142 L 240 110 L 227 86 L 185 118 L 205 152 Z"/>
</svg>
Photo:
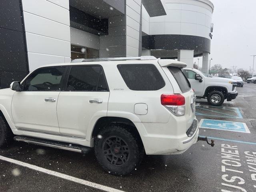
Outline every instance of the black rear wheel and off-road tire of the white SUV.
<svg viewBox="0 0 256 192">
<path fill-rule="evenodd" d="M 122 147 L 119 153 L 118 148 L 120 146 L 118 140 L 122 140 L 121 146 L 127 146 L 127 148 Z M 110 146 L 109 143 L 111 143 L 111 141 L 112 145 Z M 99 164 L 105 171 L 113 175 L 124 176 L 132 172 L 132 170 L 140 164 L 144 157 L 144 148 L 140 140 L 136 139 L 128 130 L 122 127 L 122 125 L 111 124 L 104 127 L 94 139 L 94 153 Z M 118 160 L 114 160 L 117 156 Z M 121 158 L 124 158 L 123 160 L 125 160 L 125 162 L 123 162 Z"/>
</svg>

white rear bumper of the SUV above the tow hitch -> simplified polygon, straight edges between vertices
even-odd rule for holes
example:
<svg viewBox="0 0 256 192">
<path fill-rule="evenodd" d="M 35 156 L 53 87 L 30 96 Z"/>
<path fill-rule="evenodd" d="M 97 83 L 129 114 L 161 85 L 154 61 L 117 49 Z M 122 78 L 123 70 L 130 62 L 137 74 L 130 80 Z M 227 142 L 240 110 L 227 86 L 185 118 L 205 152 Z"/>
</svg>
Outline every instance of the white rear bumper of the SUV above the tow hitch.
<svg viewBox="0 0 256 192">
<path fill-rule="evenodd" d="M 197 142 L 198 134 L 198 120 L 194 119 L 190 128 L 182 135 L 154 134 L 142 137 L 142 142 L 148 155 L 182 154 Z"/>
</svg>

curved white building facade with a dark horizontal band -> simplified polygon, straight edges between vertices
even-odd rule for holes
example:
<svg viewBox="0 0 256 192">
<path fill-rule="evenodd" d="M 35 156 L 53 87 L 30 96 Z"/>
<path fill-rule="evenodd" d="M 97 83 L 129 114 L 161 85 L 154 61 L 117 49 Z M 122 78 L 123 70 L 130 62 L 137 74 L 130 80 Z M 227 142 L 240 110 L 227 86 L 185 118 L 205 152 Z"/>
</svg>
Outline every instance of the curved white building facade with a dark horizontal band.
<svg viewBox="0 0 256 192">
<path fill-rule="evenodd" d="M 209 0 L 164 0 L 166 15 L 149 17 L 142 6 L 142 55 L 178 58 L 193 66 L 203 56 L 208 71 L 214 5 Z"/>
</svg>

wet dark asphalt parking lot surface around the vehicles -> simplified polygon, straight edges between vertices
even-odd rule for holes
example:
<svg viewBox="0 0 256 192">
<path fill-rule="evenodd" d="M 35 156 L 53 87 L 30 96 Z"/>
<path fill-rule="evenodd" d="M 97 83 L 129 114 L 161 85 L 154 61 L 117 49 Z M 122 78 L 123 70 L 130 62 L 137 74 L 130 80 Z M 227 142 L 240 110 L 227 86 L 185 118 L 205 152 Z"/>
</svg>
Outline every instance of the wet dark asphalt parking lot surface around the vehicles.
<svg viewBox="0 0 256 192">
<path fill-rule="evenodd" d="M 244 84 L 237 90 L 239 96 L 220 108 L 197 100 L 197 118 L 243 122 L 250 133 L 200 128 L 201 136 L 215 138 L 214 147 L 199 141 L 182 155 L 146 156 L 128 176 L 104 172 L 92 152 L 82 155 L 14 142 L 0 150 L 0 156 L 126 192 L 255 192 L 256 84 Z M 0 160 L 0 191 L 102 190 Z"/>
</svg>

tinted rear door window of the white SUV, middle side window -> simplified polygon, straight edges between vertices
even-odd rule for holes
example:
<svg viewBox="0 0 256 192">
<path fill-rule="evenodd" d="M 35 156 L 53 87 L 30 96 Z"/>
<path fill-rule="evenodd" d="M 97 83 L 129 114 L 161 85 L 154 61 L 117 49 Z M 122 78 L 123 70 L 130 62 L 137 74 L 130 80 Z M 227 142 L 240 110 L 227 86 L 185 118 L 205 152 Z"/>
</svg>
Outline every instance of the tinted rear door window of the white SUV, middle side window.
<svg viewBox="0 0 256 192">
<path fill-rule="evenodd" d="M 100 66 L 72 66 L 68 77 L 68 91 L 108 91 Z"/>
</svg>

